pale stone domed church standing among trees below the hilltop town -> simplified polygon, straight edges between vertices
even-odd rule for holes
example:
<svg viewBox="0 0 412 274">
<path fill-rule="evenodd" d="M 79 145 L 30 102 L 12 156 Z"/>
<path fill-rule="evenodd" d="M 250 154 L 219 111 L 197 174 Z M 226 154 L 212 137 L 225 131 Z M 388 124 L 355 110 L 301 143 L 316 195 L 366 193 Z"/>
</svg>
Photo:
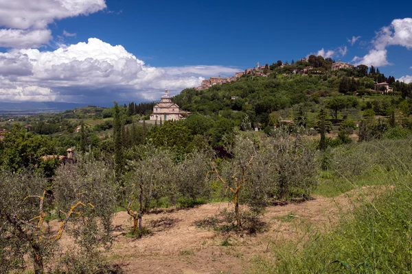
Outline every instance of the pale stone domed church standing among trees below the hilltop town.
<svg viewBox="0 0 412 274">
<path fill-rule="evenodd" d="M 179 105 L 172 102 L 169 91 L 165 90 L 160 103 L 157 103 L 153 108 L 153 113 L 150 114 L 150 120 L 178 121 L 180 119 L 185 119 L 187 114 L 190 114 L 190 112 L 180 110 Z"/>
</svg>

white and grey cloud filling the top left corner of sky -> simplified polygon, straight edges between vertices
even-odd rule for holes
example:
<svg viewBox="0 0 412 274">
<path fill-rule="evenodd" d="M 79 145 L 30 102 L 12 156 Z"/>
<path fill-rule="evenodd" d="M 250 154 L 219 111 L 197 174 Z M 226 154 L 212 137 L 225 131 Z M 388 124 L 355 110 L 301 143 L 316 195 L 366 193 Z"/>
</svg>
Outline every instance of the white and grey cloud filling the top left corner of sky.
<svg viewBox="0 0 412 274">
<path fill-rule="evenodd" d="M 0 0 L 0 47 L 40 47 L 52 40 L 54 20 L 105 8 L 105 0 Z"/>
</svg>

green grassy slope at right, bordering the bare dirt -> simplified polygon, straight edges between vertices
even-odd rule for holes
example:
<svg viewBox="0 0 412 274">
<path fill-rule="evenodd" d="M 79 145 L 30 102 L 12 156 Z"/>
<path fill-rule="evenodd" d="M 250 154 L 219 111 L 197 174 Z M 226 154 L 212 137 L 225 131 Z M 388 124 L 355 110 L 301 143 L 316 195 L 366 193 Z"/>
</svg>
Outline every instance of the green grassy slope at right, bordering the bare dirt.
<svg viewBox="0 0 412 274">
<path fill-rule="evenodd" d="M 332 232 L 275 245 L 270 256 L 256 259 L 251 272 L 412 273 L 410 140 L 361 143 L 331 153 L 342 164 L 331 163 L 323 177 L 334 184 L 330 190 L 321 184 L 319 192 L 334 196 L 368 184 L 388 187 L 375 188 L 375 197 L 365 190 L 361 205 L 341 216 Z"/>
</svg>

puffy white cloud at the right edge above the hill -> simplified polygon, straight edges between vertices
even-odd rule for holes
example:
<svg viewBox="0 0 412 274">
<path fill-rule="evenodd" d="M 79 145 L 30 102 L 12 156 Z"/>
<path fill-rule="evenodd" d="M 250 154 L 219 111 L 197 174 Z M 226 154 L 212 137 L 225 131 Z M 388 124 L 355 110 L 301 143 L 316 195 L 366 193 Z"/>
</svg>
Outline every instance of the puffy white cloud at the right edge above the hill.
<svg viewBox="0 0 412 274">
<path fill-rule="evenodd" d="M 355 56 L 356 65 L 386 66 L 391 64 L 387 60 L 387 47 L 398 45 L 412 49 L 412 18 L 395 19 L 391 25 L 382 27 L 372 40 L 374 49 L 371 49 L 363 58 Z"/>
</svg>

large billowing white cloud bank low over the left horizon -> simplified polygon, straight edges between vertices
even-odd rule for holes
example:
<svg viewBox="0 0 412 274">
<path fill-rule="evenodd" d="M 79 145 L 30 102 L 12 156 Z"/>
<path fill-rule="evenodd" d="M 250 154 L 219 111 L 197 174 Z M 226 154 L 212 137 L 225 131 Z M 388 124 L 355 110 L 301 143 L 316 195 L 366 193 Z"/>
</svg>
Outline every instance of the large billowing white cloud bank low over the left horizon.
<svg viewBox="0 0 412 274">
<path fill-rule="evenodd" d="M 104 102 L 159 99 L 201 84 L 204 77 L 234 75 L 225 66 L 148 66 L 121 45 L 97 38 L 55 51 L 14 49 L 0 53 L 0 99 Z"/>
</svg>

